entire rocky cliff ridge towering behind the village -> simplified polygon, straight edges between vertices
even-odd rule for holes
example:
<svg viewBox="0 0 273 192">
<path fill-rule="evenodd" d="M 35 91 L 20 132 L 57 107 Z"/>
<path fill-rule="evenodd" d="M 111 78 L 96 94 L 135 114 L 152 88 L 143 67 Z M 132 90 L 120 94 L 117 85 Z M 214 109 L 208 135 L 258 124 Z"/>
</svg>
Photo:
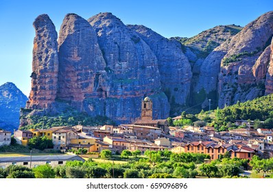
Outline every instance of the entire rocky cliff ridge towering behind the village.
<svg viewBox="0 0 273 192">
<path fill-rule="evenodd" d="M 67 14 L 57 37 L 49 16 L 40 15 L 21 125 L 27 115 L 58 115 L 67 107 L 128 123 L 140 117 L 145 96 L 153 100 L 154 119 L 163 119 L 170 108 L 179 115 L 207 108 L 209 99 L 216 108 L 271 93 L 272 15 L 244 28 L 219 25 L 170 39 L 107 12 L 87 21 Z"/>
</svg>

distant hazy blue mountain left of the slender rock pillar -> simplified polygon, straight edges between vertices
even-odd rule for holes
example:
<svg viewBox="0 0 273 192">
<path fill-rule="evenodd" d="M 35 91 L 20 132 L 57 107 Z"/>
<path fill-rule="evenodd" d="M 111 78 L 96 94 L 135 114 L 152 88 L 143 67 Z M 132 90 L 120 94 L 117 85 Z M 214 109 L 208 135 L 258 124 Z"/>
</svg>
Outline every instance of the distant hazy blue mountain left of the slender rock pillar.
<svg viewBox="0 0 273 192">
<path fill-rule="evenodd" d="M 0 86 L 0 128 L 13 131 L 19 127 L 20 108 L 27 101 L 22 91 L 11 82 Z"/>
</svg>

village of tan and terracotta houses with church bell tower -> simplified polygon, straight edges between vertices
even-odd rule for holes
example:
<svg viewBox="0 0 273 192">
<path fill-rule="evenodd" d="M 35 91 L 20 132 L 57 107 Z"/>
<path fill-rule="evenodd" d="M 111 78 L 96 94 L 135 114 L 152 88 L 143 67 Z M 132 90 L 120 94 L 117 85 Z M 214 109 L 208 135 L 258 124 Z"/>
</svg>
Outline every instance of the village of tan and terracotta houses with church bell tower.
<svg viewBox="0 0 273 192">
<path fill-rule="evenodd" d="M 180 117 L 174 117 L 177 121 Z M 254 130 L 251 122 L 238 120 L 235 123 L 247 124 L 248 128 L 215 132 L 213 127 L 187 126 L 171 127 L 167 119 L 152 119 L 152 99 L 142 101 L 141 118 L 132 124 L 83 126 L 62 126 L 49 129 L 16 130 L 16 142 L 27 146 L 29 139 L 46 136 L 52 139 L 54 149 L 60 152 L 81 152 L 99 154 L 109 149 L 112 154 L 121 154 L 125 149 L 134 152 L 169 150 L 173 153 L 208 154 L 211 160 L 228 154 L 230 158 L 251 160 L 254 155 L 260 158 L 273 156 L 272 130 Z M 10 145 L 11 132 L 0 131 L 0 145 Z M 7 165 L 14 165 L 12 160 Z"/>
</svg>

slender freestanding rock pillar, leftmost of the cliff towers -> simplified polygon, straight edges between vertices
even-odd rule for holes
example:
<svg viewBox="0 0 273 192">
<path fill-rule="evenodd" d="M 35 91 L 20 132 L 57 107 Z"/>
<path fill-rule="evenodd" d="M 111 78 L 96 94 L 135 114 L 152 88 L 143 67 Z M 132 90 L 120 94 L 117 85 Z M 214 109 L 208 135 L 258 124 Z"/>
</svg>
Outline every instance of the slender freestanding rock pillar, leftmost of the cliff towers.
<svg viewBox="0 0 273 192">
<path fill-rule="evenodd" d="M 47 14 L 38 16 L 33 26 L 32 90 L 26 107 L 52 108 L 58 87 L 58 36 Z"/>
</svg>

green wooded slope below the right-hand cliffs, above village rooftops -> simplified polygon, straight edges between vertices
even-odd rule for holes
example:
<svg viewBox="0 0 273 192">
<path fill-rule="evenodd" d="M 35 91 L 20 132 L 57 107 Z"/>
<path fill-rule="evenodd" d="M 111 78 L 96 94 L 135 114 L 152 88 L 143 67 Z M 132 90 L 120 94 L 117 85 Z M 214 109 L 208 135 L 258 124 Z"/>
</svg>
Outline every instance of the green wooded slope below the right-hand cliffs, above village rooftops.
<svg viewBox="0 0 273 192">
<path fill-rule="evenodd" d="M 215 127 L 216 131 L 224 131 L 230 129 L 241 128 L 244 126 L 235 125 L 235 120 L 254 121 L 254 128 L 272 128 L 273 125 L 273 94 L 259 97 L 252 101 L 237 104 L 233 106 L 226 106 L 223 109 L 217 108 L 216 110 L 206 111 L 202 110 L 199 114 L 194 115 L 195 119 L 188 118 L 189 115 L 182 115 L 182 119 L 173 125 L 180 125 L 180 121 L 191 120 L 193 123 L 196 121 L 205 121 L 207 125 Z M 183 114 L 182 113 L 182 114 Z M 193 116 L 193 115 L 192 115 Z M 263 121 L 263 122 L 262 122 Z M 193 125 L 193 123 L 191 123 Z M 182 123 L 188 125 L 188 123 Z"/>
</svg>

